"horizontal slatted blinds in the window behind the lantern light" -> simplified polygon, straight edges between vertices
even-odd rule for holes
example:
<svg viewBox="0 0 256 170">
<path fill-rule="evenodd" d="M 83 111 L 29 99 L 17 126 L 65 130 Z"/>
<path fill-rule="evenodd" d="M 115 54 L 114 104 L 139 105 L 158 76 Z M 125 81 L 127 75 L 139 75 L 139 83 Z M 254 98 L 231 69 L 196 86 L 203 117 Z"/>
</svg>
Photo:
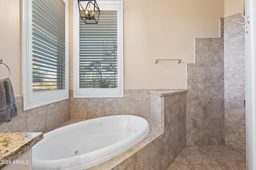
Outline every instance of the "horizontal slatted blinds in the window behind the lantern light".
<svg viewBox="0 0 256 170">
<path fill-rule="evenodd" d="M 100 11 L 98 24 L 80 18 L 80 88 L 117 88 L 117 11 Z"/>
</svg>

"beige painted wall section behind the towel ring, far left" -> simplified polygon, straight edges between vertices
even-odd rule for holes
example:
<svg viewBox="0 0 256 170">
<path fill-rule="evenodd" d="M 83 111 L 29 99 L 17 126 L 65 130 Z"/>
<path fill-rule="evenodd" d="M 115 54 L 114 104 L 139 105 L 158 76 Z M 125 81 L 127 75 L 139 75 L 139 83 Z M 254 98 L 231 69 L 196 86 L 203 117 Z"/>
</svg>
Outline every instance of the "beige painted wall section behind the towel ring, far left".
<svg viewBox="0 0 256 170">
<path fill-rule="evenodd" d="M 0 0 L 0 58 L 11 70 L 15 95 L 22 94 L 20 3 L 20 0 Z M 0 64 L 0 78 L 7 76 L 8 69 Z"/>
</svg>

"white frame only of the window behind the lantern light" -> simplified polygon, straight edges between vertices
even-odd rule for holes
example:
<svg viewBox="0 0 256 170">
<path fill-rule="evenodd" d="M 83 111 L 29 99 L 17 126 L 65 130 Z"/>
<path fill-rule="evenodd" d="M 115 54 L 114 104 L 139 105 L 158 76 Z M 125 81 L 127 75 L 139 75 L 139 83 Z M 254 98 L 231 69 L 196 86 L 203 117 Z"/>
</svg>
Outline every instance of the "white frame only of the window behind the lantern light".
<svg viewBox="0 0 256 170">
<path fill-rule="evenodd" d="M 73 1 L 73 64 L 74 98 L 121 98 L 124 97 L 123 75 L 123 1 L 97 1 L 100 10 L 116 10 L 118 13 L 118 88 L 79 87 L 79 8 Z"/>
</svg>

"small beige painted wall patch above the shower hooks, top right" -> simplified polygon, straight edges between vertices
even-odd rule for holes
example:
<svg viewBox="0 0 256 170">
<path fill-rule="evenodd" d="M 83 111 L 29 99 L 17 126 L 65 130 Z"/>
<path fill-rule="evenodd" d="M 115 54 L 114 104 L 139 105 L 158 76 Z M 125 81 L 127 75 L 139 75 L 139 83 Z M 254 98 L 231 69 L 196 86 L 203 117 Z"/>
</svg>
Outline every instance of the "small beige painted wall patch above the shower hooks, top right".
<svg viewBox="0 0 256 170">
<path fill-rule="evenodd" d="M 224 0 L 224 17 L 244 11 L 244 0 Z"/>
</svg>

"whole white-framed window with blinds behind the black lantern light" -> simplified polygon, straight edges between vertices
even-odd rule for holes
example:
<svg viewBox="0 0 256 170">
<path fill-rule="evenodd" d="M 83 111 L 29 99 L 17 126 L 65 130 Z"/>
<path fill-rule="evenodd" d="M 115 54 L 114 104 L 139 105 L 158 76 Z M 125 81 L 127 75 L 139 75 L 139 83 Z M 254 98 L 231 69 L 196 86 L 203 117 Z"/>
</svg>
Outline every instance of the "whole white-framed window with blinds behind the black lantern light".
<svg viewBox="0 0 256 170">
<path fill-rule="evenodd" d="M 123 97 L 123 4 L 97 3 L 98 24 L 84 23 L 73 4 L 74 98 Z"/>
</svg>

